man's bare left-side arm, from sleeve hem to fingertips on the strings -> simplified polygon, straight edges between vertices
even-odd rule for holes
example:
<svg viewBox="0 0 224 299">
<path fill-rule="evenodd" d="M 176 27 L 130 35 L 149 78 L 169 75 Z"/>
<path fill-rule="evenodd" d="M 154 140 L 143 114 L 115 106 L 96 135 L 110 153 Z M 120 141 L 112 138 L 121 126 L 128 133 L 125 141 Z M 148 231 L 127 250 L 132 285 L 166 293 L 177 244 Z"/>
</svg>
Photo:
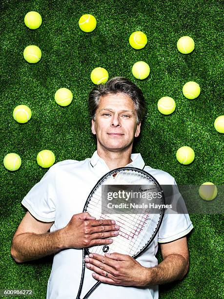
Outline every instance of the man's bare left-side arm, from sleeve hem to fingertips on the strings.
<svg viewBox="0 0 224 299">
<path fill-rule="evenodd" d="M 65 248 L 110 244 L 119 226 L 112 220 L 95 220 L 89 213 L 72 216 L 62 229 L 49 233 L 54 222 L 42 222 L 29 212 L 23 217 L 12 240 L 11 255 L 17 262 L 48 256 Z"/>
</svg>

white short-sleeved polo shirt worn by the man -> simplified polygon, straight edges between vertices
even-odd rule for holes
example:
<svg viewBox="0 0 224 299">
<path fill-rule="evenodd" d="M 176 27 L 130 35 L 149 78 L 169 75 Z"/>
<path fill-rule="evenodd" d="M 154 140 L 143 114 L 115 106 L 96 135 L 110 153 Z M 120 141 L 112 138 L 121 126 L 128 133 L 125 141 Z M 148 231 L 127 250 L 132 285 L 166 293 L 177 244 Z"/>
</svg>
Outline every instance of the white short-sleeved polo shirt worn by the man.
<svg viewBox="0 0 224 299">
<path fill-rule="evenodd" d="M 144 169 L 159 184 L 176 185 L 167 172 L 145 166 L 140 153 L 131 154 L 132 162 L 126 166 Z M 50 232 L 67 225 L 73 214 L 82 213 L 85 201 L 98 182 L 109 170 L 97 151 L 83 161 L 64 160 L 53 165 L 23 198 L 22 204 L 38 220 L 54 221 Z M 180 193 L 179 193 L 179 196 Z M 188 214 L 164 214 L 159 233 L 148 249 L 137 258 L 144 267 L 158 264 L 156 253 L 158 242 L 170 242 L 187 235 L 193 228 Z M 64 249 L 54 255 L 51 275 L 47 284 L 47 299 L 74 299 L 77 296 L 82 269 L 82 250 Z M 85 268 L 81 298 L 96 280 L 92 271 Z M 101 284 L 90 299 L 158 299 L 158 285 L 139 288 Z"/>
</svg>

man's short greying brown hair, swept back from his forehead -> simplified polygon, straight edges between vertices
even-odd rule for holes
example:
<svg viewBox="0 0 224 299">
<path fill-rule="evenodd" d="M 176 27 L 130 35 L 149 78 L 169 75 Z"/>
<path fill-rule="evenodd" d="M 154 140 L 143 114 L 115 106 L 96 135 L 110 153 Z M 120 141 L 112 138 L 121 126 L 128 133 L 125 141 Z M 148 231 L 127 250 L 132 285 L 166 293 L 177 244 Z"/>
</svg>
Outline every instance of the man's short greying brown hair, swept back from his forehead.
<svg viewBox="0 0 224 299">
<path fill-rule="evenodd" d="M 137 112 L 137 124 L 142 122 L 145 113 L 145 100 L 142 90 L 133 82 L 123 77 L 114 77 L 105 84 L 96 85 L 89 93 L 88 105 L 89 114 L 93 120 L 96 119 L 96 110 L 99 106 L 100 98 L 108 94 L 124 93 L 134 102 Z"/>
</svg>

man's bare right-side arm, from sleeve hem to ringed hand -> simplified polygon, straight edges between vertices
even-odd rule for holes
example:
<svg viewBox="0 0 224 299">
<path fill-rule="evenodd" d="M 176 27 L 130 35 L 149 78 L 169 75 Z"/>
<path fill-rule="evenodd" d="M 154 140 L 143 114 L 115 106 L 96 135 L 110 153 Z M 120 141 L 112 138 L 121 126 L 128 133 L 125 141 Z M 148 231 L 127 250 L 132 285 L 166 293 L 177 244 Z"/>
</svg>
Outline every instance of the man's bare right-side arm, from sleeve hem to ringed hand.
<svg viewBox="0 0 224 299">
<path fill-rule="evenodd" d="M 186 236 L 161 244 L 161 252 L 163 261 L 152 268 L 143 267 L 131 256 L 118 253 L 90 254 L 85 261 L 86 267 L 95 272 L 93 277 L 105 283 L 149 286 L 182 279 L 189 264 Z"/>
</svg>

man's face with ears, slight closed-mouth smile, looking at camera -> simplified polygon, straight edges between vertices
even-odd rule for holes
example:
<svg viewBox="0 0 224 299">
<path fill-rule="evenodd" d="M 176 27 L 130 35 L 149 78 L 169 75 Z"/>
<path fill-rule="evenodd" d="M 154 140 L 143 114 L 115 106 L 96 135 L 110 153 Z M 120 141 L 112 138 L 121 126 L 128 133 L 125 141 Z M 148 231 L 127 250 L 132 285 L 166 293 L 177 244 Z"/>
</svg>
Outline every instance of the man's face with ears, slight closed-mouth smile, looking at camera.
<svg viewBox="0 0 224 299">
<path fill-rule="evenodd" d="M 124 93 L 108 94 L 100 98 L 92 133 L 97 135 L 97 146 L 118 151 L 132 146 L 140 134 L 134 102 Z"/>
</svg>

